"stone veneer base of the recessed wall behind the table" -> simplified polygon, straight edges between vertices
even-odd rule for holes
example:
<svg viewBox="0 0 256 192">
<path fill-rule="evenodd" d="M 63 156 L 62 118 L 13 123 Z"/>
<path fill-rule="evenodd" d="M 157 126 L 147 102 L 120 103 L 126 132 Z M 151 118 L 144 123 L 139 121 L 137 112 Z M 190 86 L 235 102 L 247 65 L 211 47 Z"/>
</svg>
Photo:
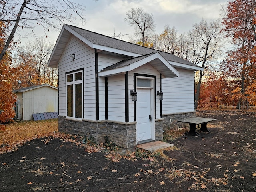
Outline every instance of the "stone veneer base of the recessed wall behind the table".
<svg viewBox="0 0 256 192">
<path fill-rule="evenodd" d="M 179 127 L 189 127 L 188 123 L 177 122 L 179 119 L 188 119 L 196 117 L 196 112 L 186 112 L 186 113 L 178 113 L 178 114 L 163 114 L 163 128 L 164 131 L 168 128 L 179 128 Z"/>
</svg>

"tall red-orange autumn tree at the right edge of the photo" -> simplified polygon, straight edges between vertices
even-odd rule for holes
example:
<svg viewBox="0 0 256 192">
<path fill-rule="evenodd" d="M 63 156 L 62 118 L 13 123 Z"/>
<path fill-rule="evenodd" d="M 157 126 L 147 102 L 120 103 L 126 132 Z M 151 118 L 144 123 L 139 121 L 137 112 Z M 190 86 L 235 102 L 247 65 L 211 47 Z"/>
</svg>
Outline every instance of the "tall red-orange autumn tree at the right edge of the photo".
<svg viewBox="0 0 256 192">
<path fill-rule="evenodd" d="M 223 66 L 226 76 L 239 79 L 240 83 L 233 93 L 238 98 L 237 108 L 242 103 L 248 105 L 247 98 L 252 94 L 254 79 L 256 78 L 255 44 L 256 44 L 256 0 L 231 0 L 225 10 L 222 24 L 226 36 L 232 39 L 235 49 L 228 53 Z M 246 90 L 250 94 L 246 95 Z M 248 98 L 252 101 L 252 98 Z M 251 102 L 255 103 L 255 102 Z"/>
</svg>

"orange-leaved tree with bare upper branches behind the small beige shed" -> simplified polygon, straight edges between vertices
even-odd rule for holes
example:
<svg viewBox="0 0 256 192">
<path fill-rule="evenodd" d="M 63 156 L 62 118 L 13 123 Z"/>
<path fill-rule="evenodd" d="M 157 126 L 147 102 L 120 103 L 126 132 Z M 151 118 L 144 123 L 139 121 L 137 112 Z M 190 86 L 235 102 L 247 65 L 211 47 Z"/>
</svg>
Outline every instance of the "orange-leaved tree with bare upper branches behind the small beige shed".
<svg viewBox="0 0 256 192">
<path fill-rule="evenodd" d="M 41 37 L 18 50 L 14 65 L 14 72 L 17 74 L 16 82 L 13 82 L 15 89 L 40 84 L 57 85 L 57 68 L 48 68 L 47 65 L 53 47 L 52 42 Z M 18 84 L 17 80 L 22 83 Z"/>
</svg>

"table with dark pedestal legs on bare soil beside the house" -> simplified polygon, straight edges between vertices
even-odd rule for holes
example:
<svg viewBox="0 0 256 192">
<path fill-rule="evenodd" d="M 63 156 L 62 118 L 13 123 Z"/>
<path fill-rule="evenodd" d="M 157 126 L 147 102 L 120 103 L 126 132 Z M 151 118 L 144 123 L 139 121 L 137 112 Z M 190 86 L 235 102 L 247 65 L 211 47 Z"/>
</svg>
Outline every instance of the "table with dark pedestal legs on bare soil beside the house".
<svg viewBox="0 0 256 192">
<path fill-rule="evenodd" d="M 200 131 L 210 133 L 210 131 L 207 129 L 207 123 L 211 122 L 211 121 L 215 121 L 215 120 L 217 120 L 217 119 L 194 117 L 194 118 L 188 118 L 188 119 L 180 119 L 180 120 L 178 120 L 178 122 L 188 123 L 190 126 L 190 130 L 188 133 L 190 135 L 199 136 L 196 132 L 196 126 L 201 124 Z"/>
</svg>

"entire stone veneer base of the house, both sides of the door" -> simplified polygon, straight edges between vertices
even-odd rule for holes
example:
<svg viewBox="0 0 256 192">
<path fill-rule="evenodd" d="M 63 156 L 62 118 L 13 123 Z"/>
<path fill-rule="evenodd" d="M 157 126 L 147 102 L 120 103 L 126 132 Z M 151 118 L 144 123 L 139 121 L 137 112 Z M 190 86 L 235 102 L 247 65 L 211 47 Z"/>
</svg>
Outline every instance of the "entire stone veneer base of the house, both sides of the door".
<svg viewBox="0 0 256 192">
<path fill-rule="evenodd" d="M 163 131 L 168 128 L 188 127 L 186 123 L 177 122 L 178 119 L 192 118 L 196 112 L 165 114 L 160 119 L 155 120 L 155 140 L 163 139 Z M 171 121 L 170 121 L 171 119 Z M 79 134 L 81 136 L 94 137 L 97 144 L 105 142 L 105 136 L 116 145 L 123 148 L 136 146 L 136 124 L 137 122 L 112 122 L 108 120 L 73 120 L 58 117 L 58 128 L 60 132 L 69 134 Z"/>
</svg>

